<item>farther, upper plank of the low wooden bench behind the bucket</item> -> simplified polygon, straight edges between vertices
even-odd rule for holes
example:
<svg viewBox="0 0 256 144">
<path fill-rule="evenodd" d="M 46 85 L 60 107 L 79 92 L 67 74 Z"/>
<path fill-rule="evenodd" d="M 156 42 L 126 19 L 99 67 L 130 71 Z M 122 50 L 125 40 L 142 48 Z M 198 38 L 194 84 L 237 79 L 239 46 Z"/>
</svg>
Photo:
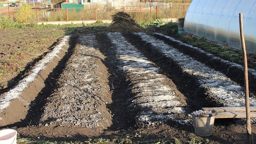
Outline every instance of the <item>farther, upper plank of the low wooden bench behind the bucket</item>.
<svg viewBox="0 0 256 144">
<path fill-rule="evenodd" d="M 203 110 L 216 110 L 217 112 L 245 112 L 245 107 L 216 107 L 202 108 Z M 256 107 L 250 107 L 250 111 L 255 112 Z"/>
</svg>

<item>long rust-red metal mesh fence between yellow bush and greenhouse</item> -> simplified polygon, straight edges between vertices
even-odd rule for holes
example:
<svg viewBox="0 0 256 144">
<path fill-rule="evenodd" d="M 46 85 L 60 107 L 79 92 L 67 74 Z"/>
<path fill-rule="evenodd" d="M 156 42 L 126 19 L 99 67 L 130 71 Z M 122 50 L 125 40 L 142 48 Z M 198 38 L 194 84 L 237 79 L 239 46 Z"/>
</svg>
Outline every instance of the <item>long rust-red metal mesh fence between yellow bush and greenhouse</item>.
<svg viewBox="0 0 256 144">
<path fill-rule="evenodd" d="M 163 6 L 116 6 L 116 7 L 84 7 L 84 8 L 52 8 L 36 9 L 37 22 L 45 21 L 86 21 L 112 20 L 116 12 L 127 12 L 137 22 L 152 22 L 156 19 L 182 18 L 189 5 Z"/>
</svg>

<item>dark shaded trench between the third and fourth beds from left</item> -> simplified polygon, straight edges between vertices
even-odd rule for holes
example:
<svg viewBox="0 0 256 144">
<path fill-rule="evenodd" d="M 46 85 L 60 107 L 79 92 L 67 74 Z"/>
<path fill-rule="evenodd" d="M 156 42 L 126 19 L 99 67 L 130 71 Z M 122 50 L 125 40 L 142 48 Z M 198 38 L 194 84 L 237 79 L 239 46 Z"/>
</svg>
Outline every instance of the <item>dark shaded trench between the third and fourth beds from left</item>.
<svg viewBox="0 0 256 144">
<path fill-rule="evenodd" d="M 182 73 L 182 69 L 178 64 L 170 58 L 165 57 L 162 53 L 157 52 L 153 46 L 144 42 L 140 36 L 132 33 L 123 33 L 123 35 L 134 44 L 146 57 L 152 60 L 158 67 L 163 70 L 163 74 L 168 76 L 177 89 L 187 97 L 189 104 L 188 113 L 201 109 L 203 107 L 218 107 L 216 102 L 207 99 L 208 93 L 199 87 L 195 76 L 188 76 Z"/>
</svg>

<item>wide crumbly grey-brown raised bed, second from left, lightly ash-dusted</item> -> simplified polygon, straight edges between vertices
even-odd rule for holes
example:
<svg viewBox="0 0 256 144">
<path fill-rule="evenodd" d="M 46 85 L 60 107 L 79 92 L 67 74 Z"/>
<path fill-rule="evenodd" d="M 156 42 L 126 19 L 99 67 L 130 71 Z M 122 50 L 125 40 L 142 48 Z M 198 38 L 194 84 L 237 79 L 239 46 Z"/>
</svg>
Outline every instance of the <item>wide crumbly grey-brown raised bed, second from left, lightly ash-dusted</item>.
<svg viewBox="0 0 256 144">
<path fill-rule="evenodd" d="M 88 128 L 112 124 L 107 105 L 112 102 L 105 56 L 95 36 L 79 36 L 72 56 L 58 79 L 58 88 L 47 98 L 41 124 Z"/>
</svg>

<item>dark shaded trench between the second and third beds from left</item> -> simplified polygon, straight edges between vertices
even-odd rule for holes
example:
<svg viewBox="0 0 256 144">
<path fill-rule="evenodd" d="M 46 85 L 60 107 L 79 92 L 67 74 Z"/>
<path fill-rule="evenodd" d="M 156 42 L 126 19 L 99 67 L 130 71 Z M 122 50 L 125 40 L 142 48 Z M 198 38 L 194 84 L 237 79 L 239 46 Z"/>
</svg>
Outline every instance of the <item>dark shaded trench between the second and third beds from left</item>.
<svg viewBox="0 0 256 144">
<path fill-rule="evenodd" d="M 127 109 L 129 105 L 127 104 L 127 99 L 130 97 L 131 89 L 128 89 L 129 82 L 125 81 L 125 76 L 118 70 L 118 64 L 115 61 L 115 53 L 113 50 L 109 49 L 111 47 L 111 43 L 109 43 L 109 40 L 106 37 L 107 35 L 103 33 L 98 33 L 96 36 L 97 42 L 101 46 L 100 51 L 107 57 L 105 61 L 102 62 L 111 74 L 108 79 L 109 87 L 112 87 L 112 84 L 115 85 L 112 93 L 113 103 L 108 105 L 108 109 L 111 110 L 113 114 L 113 124 L 108 129 L 127 129 L 136 124 L 134 121 L 134 114 L 130 113 Z"/>
</svg>

